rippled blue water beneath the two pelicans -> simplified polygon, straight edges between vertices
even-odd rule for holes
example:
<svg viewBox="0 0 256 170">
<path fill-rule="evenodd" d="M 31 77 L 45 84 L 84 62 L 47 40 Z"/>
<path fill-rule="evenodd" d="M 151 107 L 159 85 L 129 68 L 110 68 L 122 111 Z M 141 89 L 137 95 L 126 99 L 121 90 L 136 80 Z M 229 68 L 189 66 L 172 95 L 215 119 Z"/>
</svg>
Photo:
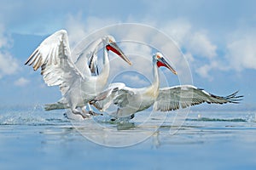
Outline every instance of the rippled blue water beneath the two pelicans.
<svg viewBox="0 0 256 170">
<path fill-rule="evenodd" d="M 255 111 L 192 111 L 182 127 L 172 124 L 171 112 L 159 128 L 152 124 L 160 122 L 157 117 L 141 125 L 143 114 L 131 122 L 109 122 L 108 117 L 70 122 L 63 111 L 46 112 L 40 106 L 0 111 L 1 169 L 256 168 Z M 100 127 L 91 124 L 95 121 Z M 83 136 L 107 144 L 107 132 L 117 144 L 135 134 L 150 137 L 113 148 Z"/>
</svg>

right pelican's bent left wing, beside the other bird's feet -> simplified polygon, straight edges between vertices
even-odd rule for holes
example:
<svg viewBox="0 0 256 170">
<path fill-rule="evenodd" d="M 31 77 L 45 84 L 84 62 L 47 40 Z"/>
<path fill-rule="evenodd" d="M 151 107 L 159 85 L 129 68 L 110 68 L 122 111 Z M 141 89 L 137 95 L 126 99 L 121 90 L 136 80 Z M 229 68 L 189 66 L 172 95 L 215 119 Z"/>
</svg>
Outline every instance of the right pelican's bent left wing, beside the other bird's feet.
<svg viewBox="0 0 256 170">
<path fill-rule="evenodd" d="M 91 101 L 98 110 L 105 111 L 109 105 L 114 104 L 119 107 L 124 107 L 129 104 L 129 98 L 134 92 L 130 88 L 125 87 L 122 82 L 109 84 L 108 88 L 98 94 L 95 99 Z"/>
</svg>

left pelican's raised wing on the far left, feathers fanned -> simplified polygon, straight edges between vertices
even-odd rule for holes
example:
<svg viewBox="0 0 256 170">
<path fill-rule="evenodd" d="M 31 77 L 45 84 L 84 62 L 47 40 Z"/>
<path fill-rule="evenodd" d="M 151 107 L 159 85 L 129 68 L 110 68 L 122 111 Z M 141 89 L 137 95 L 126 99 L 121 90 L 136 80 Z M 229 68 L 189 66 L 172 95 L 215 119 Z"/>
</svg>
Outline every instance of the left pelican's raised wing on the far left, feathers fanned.
<svg viewBox="0 0 256 170">
<path fill-rule="evenodd" d="M 66 94 L 73 80 L 82 77 L 71 59 L 67 31 L 56 31 L 47 37 L 25 65 L 32 65 L 34 71 L 41 67 L 41 75 L 48 86 L 59 86 L 61 93 Z"/>
</svg>

